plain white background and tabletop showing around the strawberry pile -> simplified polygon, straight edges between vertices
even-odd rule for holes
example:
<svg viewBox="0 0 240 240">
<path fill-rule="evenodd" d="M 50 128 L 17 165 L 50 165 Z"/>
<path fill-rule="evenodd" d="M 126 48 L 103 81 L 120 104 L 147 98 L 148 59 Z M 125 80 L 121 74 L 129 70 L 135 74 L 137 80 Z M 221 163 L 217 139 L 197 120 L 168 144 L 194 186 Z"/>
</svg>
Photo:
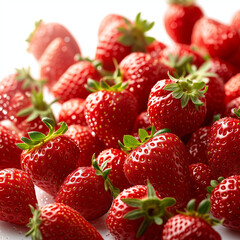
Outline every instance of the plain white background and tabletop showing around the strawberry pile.
<svg viewBox="0 0 240 240">
<path fill-rule="evenodd" d="M 199 0 L 205 15 L 229 23 L 240 9 L 239 0 Z M 31 66 L 37 73 L 34 58 L 26 52 L 25 39 L 33 30 L 34 22 L 59 22 L 76 37 L 84 56 L 94 57 L 97 44 L 97 29 L 101 19 L 109 13 L 122 14 L 134 19 L 138 12 L 149 21 L 155 21 L 149 35 L 171 44 L 163 27 L 165 0 L 0 0 L 0 78 L 12 73 L 15 68 Z M 48 199 L 46 199 L 48 198 Z M 49 196 L 38 191 L 39 204 L 51 201 Z M 112 239 L 104 231 L 104 219 L 94 223 L 104 239 Z M 224 227 L 216 227 L 224 240 L 240 239 L 240 233 Z M 0 240 L 26 239 L 25 228 L 0 221 Z"/>
</svg>

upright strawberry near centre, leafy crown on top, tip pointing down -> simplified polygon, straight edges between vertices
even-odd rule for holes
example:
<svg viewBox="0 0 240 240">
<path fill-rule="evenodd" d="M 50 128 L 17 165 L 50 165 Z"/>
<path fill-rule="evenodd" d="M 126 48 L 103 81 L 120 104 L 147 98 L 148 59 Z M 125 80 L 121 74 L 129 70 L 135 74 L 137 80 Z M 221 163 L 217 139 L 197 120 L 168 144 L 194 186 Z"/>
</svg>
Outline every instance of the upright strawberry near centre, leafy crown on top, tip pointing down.
<svg viewBox="0 0 240 240">
<path fill-rule="evenodd" d="M 124 90 L 127 84 L 110 87 L 106 82 L 89 80 L 85 102 L 86 121 L 106 148 L 118 148 L 118 140 L 132 131 L 138 114 L 138 104 L 132 93 Z"/>
</svg>

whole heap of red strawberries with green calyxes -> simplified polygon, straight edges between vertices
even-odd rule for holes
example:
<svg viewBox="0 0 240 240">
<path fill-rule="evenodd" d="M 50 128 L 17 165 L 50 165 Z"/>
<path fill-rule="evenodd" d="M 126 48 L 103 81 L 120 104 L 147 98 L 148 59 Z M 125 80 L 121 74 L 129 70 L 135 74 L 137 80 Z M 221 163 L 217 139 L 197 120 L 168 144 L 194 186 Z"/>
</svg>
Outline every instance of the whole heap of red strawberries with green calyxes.
<svg viewBox="0 0 240 240">
<path fill-rule="evenodd" d="M 0 82 L 0 220 L 34 240 L 102 239 L 104 214 L 115 239 L 240 231 L 240 11 L 225 25 L 169 2 L 172 46 L 141 14 L 109 14 L 93 60 L 61 24 L 36 23 L 39 79 Z M 39 208 L 34 186 L 55 202 Z"/>
</svg>

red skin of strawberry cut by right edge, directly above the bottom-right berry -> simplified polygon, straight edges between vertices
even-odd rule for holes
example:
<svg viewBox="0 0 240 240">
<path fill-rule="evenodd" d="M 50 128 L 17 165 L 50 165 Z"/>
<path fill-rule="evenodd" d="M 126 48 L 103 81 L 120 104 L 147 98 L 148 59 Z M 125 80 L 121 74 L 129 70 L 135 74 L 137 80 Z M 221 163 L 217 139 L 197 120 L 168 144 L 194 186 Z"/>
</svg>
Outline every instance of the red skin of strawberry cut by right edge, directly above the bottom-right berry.
<svg viewBox="0 0 240 240">
<path fill-rule="evenodd" d="M 240 120 L 221 118 L 208 134 L 207 156 L 214 179 L 240 174 Z"/>
</svg>

